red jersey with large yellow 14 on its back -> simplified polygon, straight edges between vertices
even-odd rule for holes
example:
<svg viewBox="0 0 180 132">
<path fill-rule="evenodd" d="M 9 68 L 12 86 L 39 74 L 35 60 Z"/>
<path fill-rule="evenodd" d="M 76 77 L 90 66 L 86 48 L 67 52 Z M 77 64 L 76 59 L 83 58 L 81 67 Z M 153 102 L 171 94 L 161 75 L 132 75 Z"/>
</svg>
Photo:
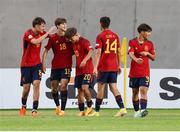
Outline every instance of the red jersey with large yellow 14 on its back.
<svg viewBox="0 0 180 132">
<path fill-rule="evenodd" d="M 118 48 L 120 48 L 119 37 L 111 30 L 104 30 L 96 38 L 96 49 L 101 48 L 98 71 L 118 71 Z"/>
</svg>

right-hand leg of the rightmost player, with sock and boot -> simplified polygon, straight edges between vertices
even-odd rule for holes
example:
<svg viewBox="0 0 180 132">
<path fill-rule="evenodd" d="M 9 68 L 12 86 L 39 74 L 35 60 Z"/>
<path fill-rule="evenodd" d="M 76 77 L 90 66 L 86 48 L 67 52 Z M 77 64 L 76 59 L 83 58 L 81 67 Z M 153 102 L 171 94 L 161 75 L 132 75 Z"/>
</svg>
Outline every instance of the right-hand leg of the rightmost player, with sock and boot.
<svg viewBox="0 0 180 132">
<path fill-rule="evenodd" d="M 147 108 L 147 92 L 148 88 L 145 86 L 141 86 L 139 88 L 141 99 L 140 99 L 140 105 L 141 105 L 141 116 L 145 117 L 148 114 Z"/>
</svg>

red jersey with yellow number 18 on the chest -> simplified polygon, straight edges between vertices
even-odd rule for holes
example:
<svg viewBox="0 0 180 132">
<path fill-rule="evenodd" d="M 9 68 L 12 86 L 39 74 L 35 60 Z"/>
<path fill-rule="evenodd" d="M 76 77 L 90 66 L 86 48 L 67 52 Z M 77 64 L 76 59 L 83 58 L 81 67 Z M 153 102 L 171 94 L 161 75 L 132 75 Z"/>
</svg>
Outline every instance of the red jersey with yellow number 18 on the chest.
<svg viewBox="0 0 180 132">
<path fill-rule="evenodd" d="M 58 34 L 50 36 L 48 44 L 45 46 L 47 50 L 52 48 L 54 58 L 51 62 L 52 69 L 71 68 L 72 67 L 72 44 L 65 37 Z"/>
</svg>

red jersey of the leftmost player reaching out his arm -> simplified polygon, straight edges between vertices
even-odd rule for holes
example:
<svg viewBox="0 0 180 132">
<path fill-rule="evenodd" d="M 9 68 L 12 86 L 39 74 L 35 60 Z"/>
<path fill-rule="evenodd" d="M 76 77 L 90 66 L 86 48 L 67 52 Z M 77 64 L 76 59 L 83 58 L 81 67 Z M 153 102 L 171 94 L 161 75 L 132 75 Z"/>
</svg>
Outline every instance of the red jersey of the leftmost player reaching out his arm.
<svg viewBox="0 0 180 132">
<path fill-rule="evenodd" d="M 44 34 L 45 32 L 34 33 L 32 29 L 29 29 L 24 33 L 23 56 L 21 60 L 21 67 L 30 67 L 41 63 L 41 59 L 40 59 L 41 43 L 35 45 L 31 43 L 31 40 L 34 38 L 37 39 Z"/>
</svg>

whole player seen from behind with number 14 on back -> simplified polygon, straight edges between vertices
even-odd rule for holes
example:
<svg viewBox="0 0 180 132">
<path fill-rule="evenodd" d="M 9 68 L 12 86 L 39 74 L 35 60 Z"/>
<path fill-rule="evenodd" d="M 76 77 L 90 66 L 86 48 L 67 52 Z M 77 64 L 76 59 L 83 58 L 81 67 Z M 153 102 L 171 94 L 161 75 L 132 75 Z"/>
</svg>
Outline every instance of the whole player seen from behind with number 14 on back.
<svg viewBox="0 0 180 132">
<path fill-rule="evenodd" d="M 117 75 L 121 72 L 119 37 L 109 29 L 109 25 L 109 17 L 100 18 L 102 32 L 96 38 L 97 52 L 94 66 L 94 74 L 98 76 L 98 91 L 95 104 L 96 112 L 94 112 L 92 116 L 99 116 L 100 105 L 103 101 L 106 84 L 109 84 L 110 90 L 120 108 L 115 116 L 123 116 L 127 113 L 117 88 Z"/>
</svg>

